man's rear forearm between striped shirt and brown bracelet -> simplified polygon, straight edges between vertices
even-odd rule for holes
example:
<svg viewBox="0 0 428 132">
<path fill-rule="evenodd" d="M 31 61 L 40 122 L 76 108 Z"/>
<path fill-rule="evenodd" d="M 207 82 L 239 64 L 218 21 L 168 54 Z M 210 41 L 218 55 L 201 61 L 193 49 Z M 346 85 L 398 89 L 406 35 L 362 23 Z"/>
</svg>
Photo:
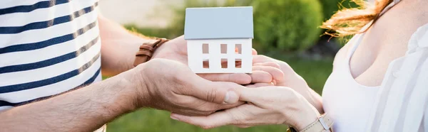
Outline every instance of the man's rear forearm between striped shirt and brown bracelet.
<svg viewBox="0 0 428 132">
<path fill-rule="evenodd" d="M 127 31 L 113 21 L 98 17 L 101 35 L 103 75 L 113 76 L 133 67 L 133 60 L 141 44 L 153 42 L 150 38 Z"/>
</svg>

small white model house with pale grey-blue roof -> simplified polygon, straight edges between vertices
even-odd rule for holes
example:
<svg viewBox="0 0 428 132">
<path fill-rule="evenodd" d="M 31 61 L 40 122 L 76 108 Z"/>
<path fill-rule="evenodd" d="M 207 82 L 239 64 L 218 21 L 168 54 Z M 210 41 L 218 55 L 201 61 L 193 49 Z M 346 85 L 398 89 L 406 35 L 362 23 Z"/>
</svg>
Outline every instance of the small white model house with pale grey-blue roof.
<svg viewBox="0 0 428 132">
<path fill-rule="evenodd" d="M 195 73 L 251 73 L 253 7 L 188 8 L 188 66 Z"/>
</svg>

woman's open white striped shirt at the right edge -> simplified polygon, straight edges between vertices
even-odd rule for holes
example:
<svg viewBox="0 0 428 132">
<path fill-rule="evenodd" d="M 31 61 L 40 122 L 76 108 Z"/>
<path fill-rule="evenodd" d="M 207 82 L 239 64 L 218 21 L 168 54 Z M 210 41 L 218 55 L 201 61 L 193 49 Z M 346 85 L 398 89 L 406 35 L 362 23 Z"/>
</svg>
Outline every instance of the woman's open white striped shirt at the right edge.
<svg viewBox="0 0 428 132">
<path fill-rule="evenodd" d="M 428 131 L 428 24 L 389 64 L 371 112 L 366 131 Z"/>
</svg>

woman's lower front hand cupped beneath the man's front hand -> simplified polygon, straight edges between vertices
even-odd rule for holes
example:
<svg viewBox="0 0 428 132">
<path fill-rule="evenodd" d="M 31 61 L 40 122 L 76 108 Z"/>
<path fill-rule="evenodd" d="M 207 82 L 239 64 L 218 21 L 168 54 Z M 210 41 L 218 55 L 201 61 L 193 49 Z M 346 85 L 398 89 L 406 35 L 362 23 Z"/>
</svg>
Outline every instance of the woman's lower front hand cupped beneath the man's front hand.
<svg viewBox="0 0 428 132">
<path fill-rule="evenodd" d="M 171 114 L 171 118 L 202 128 L 285 124 L 302 130 L 320 116 L 304 97 L 288 87 L 240 88 L 238 91 L 240 100 L 247 101 L 247 104 L 210 116 Z"/>
</svg>

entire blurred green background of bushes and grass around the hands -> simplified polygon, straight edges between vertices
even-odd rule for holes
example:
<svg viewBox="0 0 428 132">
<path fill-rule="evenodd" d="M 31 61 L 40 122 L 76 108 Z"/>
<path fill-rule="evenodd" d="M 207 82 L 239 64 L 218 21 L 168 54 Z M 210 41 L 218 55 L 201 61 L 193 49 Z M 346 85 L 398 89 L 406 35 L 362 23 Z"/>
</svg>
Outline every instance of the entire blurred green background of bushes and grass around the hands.
<svg viewBox="0 0 428 132">
<path fill-rule="evenodd" d="M 316 92 L 322 92 L 325 80 L 332 72 L 332 60 L 341 48 L 335 38 L 322 35 L 322 21 L 343 6 L 355 4 L 342 0 L 185 0 L 184 6 L 167 5 L 173 9 L 173 18 L 166 28 L 141 28 L 134 23 L 124 26 L 131 31 L 148 36 L 175 38 L 184 33 L 186 7 L 253 6 L 255 39 L 253 47 L 259 54 L 283 60 L 306 79 Z M 156 14 L 154 14 L 156 15 Z M 142 109 L 108 123 L 109 132 L 273 132 L 286 131 L 287 126 L 256 126 L 237 128 L 224 126 L 204 130 L 197 126 L 174 121 L 167 111 Z"/>
</svg>

